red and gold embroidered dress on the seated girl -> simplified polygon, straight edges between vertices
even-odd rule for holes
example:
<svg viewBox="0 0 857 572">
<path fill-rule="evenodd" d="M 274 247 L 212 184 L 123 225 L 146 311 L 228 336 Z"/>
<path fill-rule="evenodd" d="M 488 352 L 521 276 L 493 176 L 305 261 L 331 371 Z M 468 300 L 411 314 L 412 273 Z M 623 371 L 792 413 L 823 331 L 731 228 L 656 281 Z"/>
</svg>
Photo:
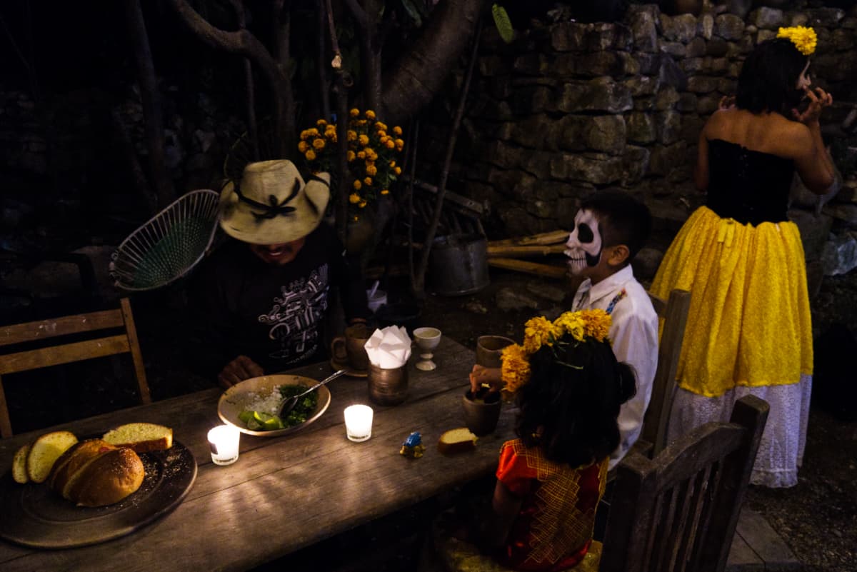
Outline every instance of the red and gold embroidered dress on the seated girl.
<svg viewBox="0 0 857 572">
<path fill-rule="evenodd" d="M 495 557 L 517 570 L 559 571 L 586 555 L 595 511 L 607 483 L 608 458 L 572 468 L 528 449 L 520 439 L 500 448 L 497 479 L 524 503 L 506 546 Z"/>
</svg>

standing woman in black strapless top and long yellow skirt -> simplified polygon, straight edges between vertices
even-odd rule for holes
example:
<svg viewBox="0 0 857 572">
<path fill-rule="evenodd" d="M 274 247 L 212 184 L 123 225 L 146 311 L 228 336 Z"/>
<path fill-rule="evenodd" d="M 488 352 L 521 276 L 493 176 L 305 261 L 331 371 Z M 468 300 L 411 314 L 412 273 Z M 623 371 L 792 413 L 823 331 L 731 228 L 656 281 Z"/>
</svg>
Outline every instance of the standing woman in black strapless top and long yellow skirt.
<svg viewBox="0 0 857 572">
<path fill-rule="evenodd" d="M 834 181 L 818 126 L 833 100 L 807 71 L 815 44 L 812 28 L 780 28 L 746 58 L 734 106 L 699 136 L 694 180 L 705 206 L 680 229 L 651 287 L 664 298 L 691 292 L 668 438 L 726 421 L 735 400 L 759 396 L 770 416 L 751 482 L 764 486 L 797 484 L 806 443 L 812 324 L 787 203 L 794 171 L 814 193 Z"/>
</svg>

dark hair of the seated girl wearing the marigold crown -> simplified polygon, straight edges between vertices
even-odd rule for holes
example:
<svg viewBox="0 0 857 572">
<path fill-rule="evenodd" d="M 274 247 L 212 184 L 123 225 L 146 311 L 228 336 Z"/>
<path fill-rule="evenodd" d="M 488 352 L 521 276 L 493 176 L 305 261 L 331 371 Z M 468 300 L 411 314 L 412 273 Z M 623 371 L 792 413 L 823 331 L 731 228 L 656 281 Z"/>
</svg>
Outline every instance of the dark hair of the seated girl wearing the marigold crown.
<svg viewBox="0 0 857 572">
<path fill-rule="evenodd" d="M 518 391 L 515 432 L 527 447 L 554 462 L 579 467 L 619 446 L 616 417 L 636 393 L 630 366 L 616 361 L 607 342 L 563 337 L 530 356 L 530 382 Z"/>
</svg>

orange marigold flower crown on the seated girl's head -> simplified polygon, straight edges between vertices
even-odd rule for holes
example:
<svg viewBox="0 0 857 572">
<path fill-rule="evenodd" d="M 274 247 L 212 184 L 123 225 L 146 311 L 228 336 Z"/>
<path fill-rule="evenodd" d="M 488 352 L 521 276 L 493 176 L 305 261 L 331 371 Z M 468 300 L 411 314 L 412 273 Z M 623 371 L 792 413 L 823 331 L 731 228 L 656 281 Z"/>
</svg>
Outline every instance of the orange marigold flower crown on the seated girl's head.
<svg viewBox="0 0 857 572">
<path fill-rule="evenodd" d="M 524 343 L 513 343 L 503 349 L 500 359 L 502 360 L 501 375 L 506 393 L 515 393 L 524 384 L 530 381 L 530 355 L 535 354 L 542 346 L 554 349 L 559 345 L 567 343 L 584 342 L 586 338 L 592 338 L 597 342 L 608 340 L 610 314 L 603 310 L 580 310 L 579 312 L 566 312 L 553 322 L 544 316 L 530 318 L 524 325 Z M 571 336 L 575 342 L 569 342 L 566 334 Z M 570 363 L 559 360 L 558 362 L 567 367 L 580 369 Z"/>
</svg>

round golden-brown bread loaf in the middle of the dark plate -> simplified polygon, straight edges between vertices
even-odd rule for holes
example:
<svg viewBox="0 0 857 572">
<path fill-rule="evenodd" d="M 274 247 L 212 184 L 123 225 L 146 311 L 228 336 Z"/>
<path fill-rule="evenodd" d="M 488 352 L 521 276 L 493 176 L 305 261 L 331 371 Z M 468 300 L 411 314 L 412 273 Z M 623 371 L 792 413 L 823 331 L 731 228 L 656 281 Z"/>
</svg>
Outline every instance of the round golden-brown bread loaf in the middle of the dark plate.
<svg viewBox="0 0 857 572">
<path fill-rule="evenodd" d="M 57 459 L 48 484 L 82 506 L 118 503 L 143 483 L 146 471 L 137 454 L 101 439 L 76 444 Z"/>
</svg>

